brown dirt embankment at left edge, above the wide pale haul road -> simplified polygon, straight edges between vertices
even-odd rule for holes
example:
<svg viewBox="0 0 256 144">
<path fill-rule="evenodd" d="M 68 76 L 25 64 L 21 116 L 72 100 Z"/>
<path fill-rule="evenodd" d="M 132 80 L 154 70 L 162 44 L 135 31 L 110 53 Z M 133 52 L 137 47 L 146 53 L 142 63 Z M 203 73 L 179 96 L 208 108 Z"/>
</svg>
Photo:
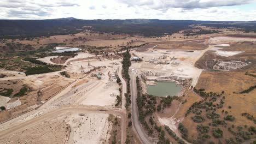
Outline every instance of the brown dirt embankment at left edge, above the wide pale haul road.
<svg viewBox="0 0 256 144">
<path fill-rule="evenodd" d="M 11 99 L 8 103 L 16 100 L 21 102 L 20 105 L 17 105 L 12 109 L 0 112 L 0 122 L 4 122 L 42 105 L 45 101 L 61 91 L 62 88 L 69 85 L 71 80 L 63 79 L 63 77 L 60 76 L 39 76 L 30 77 L 24 80 L 8 80 L 0 82 L 2 82 L 0 85 L 3 87 L 13 89 L 13 94 L 10 95 Z M 27 87 L 25 95 L 14 97 L 13 95 L 18 93 L 24 86 Z"/>
</svg>

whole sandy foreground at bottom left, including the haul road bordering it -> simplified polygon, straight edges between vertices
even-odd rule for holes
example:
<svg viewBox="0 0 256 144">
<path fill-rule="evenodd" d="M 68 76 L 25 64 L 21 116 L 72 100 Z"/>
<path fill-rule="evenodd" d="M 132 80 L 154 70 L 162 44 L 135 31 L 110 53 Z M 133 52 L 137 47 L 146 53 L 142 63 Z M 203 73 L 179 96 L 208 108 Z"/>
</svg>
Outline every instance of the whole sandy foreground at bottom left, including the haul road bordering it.
<svg viewBox="0 0 256 144">
<path fill-rule="evenodd" d="M 36 113 L 27 113 L 27 116 L 31 118 L 24 115 L 11 120 L 13 122 L 7 122 L 0 126 L 0 142 L 84 143 L 86 141 L 86 143 L 108 143 L 109 132 L 112 128 L 112 122 L 108 121 L 108 113 L 120 115 L 121 112 L 96 109 L 104 108 L 73 106 L 45 113 L 43 112 L 45 109 L 40 109 L 37 110 L 37 116 L 34 117 L 32 116 Z M 120 116 L 124 118 L 123 114 Z M 19 120 L 22 117 L 23 120 Z M 121 129 L 124 128 L 124 124 L 122 121 Z M 121 134 L 123 134 L 123 130 Z M 3 137 L 4 139 L 2 139 Z M 40 141 L 36 139 L 37 137 Z"/>
</svg>

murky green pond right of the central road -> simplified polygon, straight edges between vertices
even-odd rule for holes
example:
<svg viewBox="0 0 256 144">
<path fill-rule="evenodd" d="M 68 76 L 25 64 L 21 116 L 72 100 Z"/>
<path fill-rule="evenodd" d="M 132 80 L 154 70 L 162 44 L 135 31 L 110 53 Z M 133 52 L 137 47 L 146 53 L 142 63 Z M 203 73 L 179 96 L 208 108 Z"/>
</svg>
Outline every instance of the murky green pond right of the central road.
<svg viewBox="0 0 256 144">
<path fill-rule="evenodd" d="M 166 97 L 167 95 L 178 95 L 182 87 L 177 85 L 176 82 L 156 82 L 156 85 L 148 85 L 147 93 L 159 97 Z"/>
</svg>

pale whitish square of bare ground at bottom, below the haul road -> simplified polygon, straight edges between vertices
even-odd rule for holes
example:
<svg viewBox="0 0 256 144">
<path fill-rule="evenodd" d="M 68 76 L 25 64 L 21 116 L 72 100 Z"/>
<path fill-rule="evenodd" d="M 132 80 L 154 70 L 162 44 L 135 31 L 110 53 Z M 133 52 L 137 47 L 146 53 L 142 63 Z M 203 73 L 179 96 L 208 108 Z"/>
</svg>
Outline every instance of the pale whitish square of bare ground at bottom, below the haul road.
<svg viewBox="0 0 256 144">
<path fill-rule="evenodd" d="M 67 123 L 71 127 L 71 133 L 67 143 L 108 143 L 109 131 L 112 129 L 111 122 L 108 122 L 108 114 L 79 115 L 69 116 Z"/>
</svg>

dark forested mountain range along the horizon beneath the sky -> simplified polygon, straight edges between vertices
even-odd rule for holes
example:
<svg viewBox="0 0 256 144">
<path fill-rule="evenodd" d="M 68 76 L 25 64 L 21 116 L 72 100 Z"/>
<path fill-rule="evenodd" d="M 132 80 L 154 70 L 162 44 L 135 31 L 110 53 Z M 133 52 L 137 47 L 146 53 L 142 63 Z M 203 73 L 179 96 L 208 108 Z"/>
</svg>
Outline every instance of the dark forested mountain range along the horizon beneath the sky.
<svg viewBox="0 0 256 144">
<path fill-rule="evenodd" d="M 252 21 L 255 22 L 255 21 Z M 80 20 L 74 17 L 51 20 L 0 20 L 0 37 L 22 37 L 78 33 L 91 26 L 98 32 L 140 34 L 144 36 L 172 34 L 192 24 L 214 27 L 237 27 L 254 31 L 252 22 L 218 22 L 192 20 Z"/>
</svg>

